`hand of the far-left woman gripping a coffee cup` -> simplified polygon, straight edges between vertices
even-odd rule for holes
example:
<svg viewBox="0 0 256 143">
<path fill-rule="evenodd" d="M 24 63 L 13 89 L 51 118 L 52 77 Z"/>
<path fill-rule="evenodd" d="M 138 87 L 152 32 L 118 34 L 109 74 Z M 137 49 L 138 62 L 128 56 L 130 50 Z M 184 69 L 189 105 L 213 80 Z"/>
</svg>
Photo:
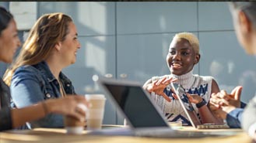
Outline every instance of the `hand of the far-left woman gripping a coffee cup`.
<svg viewBox="0 0 256 143">
<path fill-rule="evenodd" d="M 89 104 L 82 95 L 67 95 L 58 99 L 44 101 L 44 110 L 49 113 L 63 114 L 77 118 L 79 121 L 86 121 L 86 107 Z"/>
</svg>

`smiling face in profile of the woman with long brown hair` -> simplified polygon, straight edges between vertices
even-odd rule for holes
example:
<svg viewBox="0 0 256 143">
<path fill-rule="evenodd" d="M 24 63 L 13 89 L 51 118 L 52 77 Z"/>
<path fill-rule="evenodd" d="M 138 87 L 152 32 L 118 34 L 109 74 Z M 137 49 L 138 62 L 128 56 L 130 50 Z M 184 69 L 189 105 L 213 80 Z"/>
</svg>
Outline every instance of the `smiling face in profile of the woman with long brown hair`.
<svg viewBox="0 0 256 143">
<path fill-rule="evenodd" d="M 68 34 L 65 40 L 61 42 L 61 55 L 63 63 L 70 65 L 75 63 L 77 50 L 80 48 L 80 43 L 77 38 L 77 31 L 73 22 L 68 23 Z"/>
</svg>

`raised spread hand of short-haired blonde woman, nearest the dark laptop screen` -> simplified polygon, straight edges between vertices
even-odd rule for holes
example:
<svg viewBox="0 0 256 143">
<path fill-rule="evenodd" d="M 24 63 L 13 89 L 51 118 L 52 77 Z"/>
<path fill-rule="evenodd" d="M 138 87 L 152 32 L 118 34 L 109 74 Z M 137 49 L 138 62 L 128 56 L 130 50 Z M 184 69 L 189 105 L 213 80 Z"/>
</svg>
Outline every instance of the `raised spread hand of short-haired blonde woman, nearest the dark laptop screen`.
<svg viewBox="0 0 256 143">
<path fill-rule="evenodd" d="M 152 83 L 146 83 L 144 85 L 144 89 L 148 90 L 149 93 L 154 92 L 157 95 L 163 96 L 168 102 L 170 102 L 170 98 L 163 92 L 163 90 L 169 85 L 171 82 L 176 81 L 173 77 L 166 76 L 160 80 L 155 80 Z"/>
</svg>

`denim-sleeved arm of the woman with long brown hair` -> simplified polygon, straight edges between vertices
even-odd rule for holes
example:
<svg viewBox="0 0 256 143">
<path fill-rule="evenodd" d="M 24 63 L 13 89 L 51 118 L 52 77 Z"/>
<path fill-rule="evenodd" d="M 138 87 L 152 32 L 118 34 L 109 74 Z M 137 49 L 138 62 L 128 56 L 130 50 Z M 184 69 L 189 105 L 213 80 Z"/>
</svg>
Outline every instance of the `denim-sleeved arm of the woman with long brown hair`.
<svg viewBox="0 0 256 143">
<path fill-rule="evenodd" d="M 11 94 L 16 107 L 32 106 L 48 98 L 41 89 L 40 76 L 37 76 L 37 74 L 31 70 L 21 69 L 16 71 L 12 77 Z M 52 99 L 55 97 L 51 89 L 47 90 L 47 94 Z M 32 128 L 60 128 L 63 127 L 63 117 L 61 114 L 47 114 L 47 116 L 40 118 L 40 120 L 31 121 L 30 124 Z"/>
</svg>

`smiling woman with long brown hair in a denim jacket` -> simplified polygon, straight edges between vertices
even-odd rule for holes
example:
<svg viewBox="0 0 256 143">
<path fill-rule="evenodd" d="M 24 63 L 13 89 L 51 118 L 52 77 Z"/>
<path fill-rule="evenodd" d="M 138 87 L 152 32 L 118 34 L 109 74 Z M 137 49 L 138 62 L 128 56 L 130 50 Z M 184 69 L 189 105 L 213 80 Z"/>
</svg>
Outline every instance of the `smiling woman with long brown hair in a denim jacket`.
<svg viewBox="0 0 256 143">
<path fill-rule="evenodd" d="M 11 87 L 16 107 L 27 107 L 54 98 L 79 97 L 71 96 L 75 95 L 72 82 L 61 73 L 63 68 L 75 63 L 80 48 L 77 35 L 72 18 L 63 13 L 42 15 L 37 20 L 19 56 L 4 76 L 5 83 Z M 58 105 L 63 109 L 69 106 Z M 30 125 L 32 128 L 59 128 L 63 127 L 63 117 L 61 114 L 49 114 L 30 122 Z"/>
</svg>

